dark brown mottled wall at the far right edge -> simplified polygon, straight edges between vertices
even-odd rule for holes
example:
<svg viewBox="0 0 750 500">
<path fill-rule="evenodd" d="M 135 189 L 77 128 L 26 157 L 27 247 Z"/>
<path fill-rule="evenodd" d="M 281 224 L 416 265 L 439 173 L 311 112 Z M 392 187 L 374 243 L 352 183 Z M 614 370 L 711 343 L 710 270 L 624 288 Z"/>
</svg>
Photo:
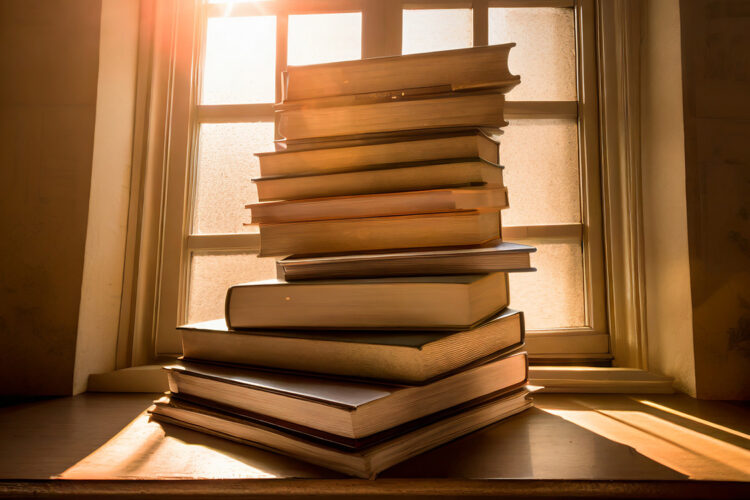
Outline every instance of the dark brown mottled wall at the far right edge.
<svg viewBox="0 0 750 500">
<path fill-rule="evenodd" d="M 750 398 L 750 2 L 683 0 L 696 392 Z"/>
</svg>

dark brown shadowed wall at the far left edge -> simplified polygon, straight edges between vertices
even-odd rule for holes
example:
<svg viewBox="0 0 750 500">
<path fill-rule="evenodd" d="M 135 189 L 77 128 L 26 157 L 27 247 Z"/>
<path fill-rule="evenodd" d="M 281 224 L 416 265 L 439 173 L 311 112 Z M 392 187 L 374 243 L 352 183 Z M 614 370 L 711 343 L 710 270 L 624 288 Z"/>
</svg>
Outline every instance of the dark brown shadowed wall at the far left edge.
<svg viewBox="0 0 750 500">
<path fill-rule="evenodd" d="M 0 393 L 73 387 L 100 0 L 0 2 Z"/>
</svg>

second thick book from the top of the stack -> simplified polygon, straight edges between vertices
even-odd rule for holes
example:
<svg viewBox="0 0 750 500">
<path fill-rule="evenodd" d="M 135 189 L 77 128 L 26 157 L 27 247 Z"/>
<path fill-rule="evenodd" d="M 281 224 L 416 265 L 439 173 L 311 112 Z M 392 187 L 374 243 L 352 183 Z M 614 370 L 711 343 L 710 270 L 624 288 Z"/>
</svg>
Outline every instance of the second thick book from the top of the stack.
<svg viewBox="0 0 750 500">
<path fill-rule="evenodd" d="M 441 127 L 503 127 L 505 96 L 494 91 L 431 95 L 349 106 L 276 111 L 279 137 L 286 140 L 337 137 Z"/>
</svg>

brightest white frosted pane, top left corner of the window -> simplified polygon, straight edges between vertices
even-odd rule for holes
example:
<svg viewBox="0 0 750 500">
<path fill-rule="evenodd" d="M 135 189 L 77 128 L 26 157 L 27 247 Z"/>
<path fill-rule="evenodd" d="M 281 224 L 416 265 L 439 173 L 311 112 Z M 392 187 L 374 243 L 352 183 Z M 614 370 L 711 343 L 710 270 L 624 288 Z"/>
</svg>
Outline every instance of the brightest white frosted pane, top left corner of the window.
<svg viewBox="0 0 750 500">
<path fill-rule="evenodd" d="M 212 17 L 207 22 L 201 102 L 274 102 L 276 16 Z"/>
</svg>

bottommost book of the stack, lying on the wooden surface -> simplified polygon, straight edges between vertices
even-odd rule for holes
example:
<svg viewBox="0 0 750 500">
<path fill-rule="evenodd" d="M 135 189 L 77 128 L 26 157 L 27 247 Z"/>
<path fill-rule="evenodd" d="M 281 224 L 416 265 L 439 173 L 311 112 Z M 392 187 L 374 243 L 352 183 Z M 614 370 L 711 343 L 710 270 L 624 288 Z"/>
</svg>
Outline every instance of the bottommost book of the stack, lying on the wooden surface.
<svg viewBox="0 0 750 500">
<path fill-rule="evenodd" d="M 530 408 L 519 389 L 467 405 L 433 422 L 371 446 L 351 450 L 251 418 L 168 397 L 149 408 L 157 421 L 281 453 L 345 474 L 374 478 L 379 472 L 461 436 Z"/>
</svg>

